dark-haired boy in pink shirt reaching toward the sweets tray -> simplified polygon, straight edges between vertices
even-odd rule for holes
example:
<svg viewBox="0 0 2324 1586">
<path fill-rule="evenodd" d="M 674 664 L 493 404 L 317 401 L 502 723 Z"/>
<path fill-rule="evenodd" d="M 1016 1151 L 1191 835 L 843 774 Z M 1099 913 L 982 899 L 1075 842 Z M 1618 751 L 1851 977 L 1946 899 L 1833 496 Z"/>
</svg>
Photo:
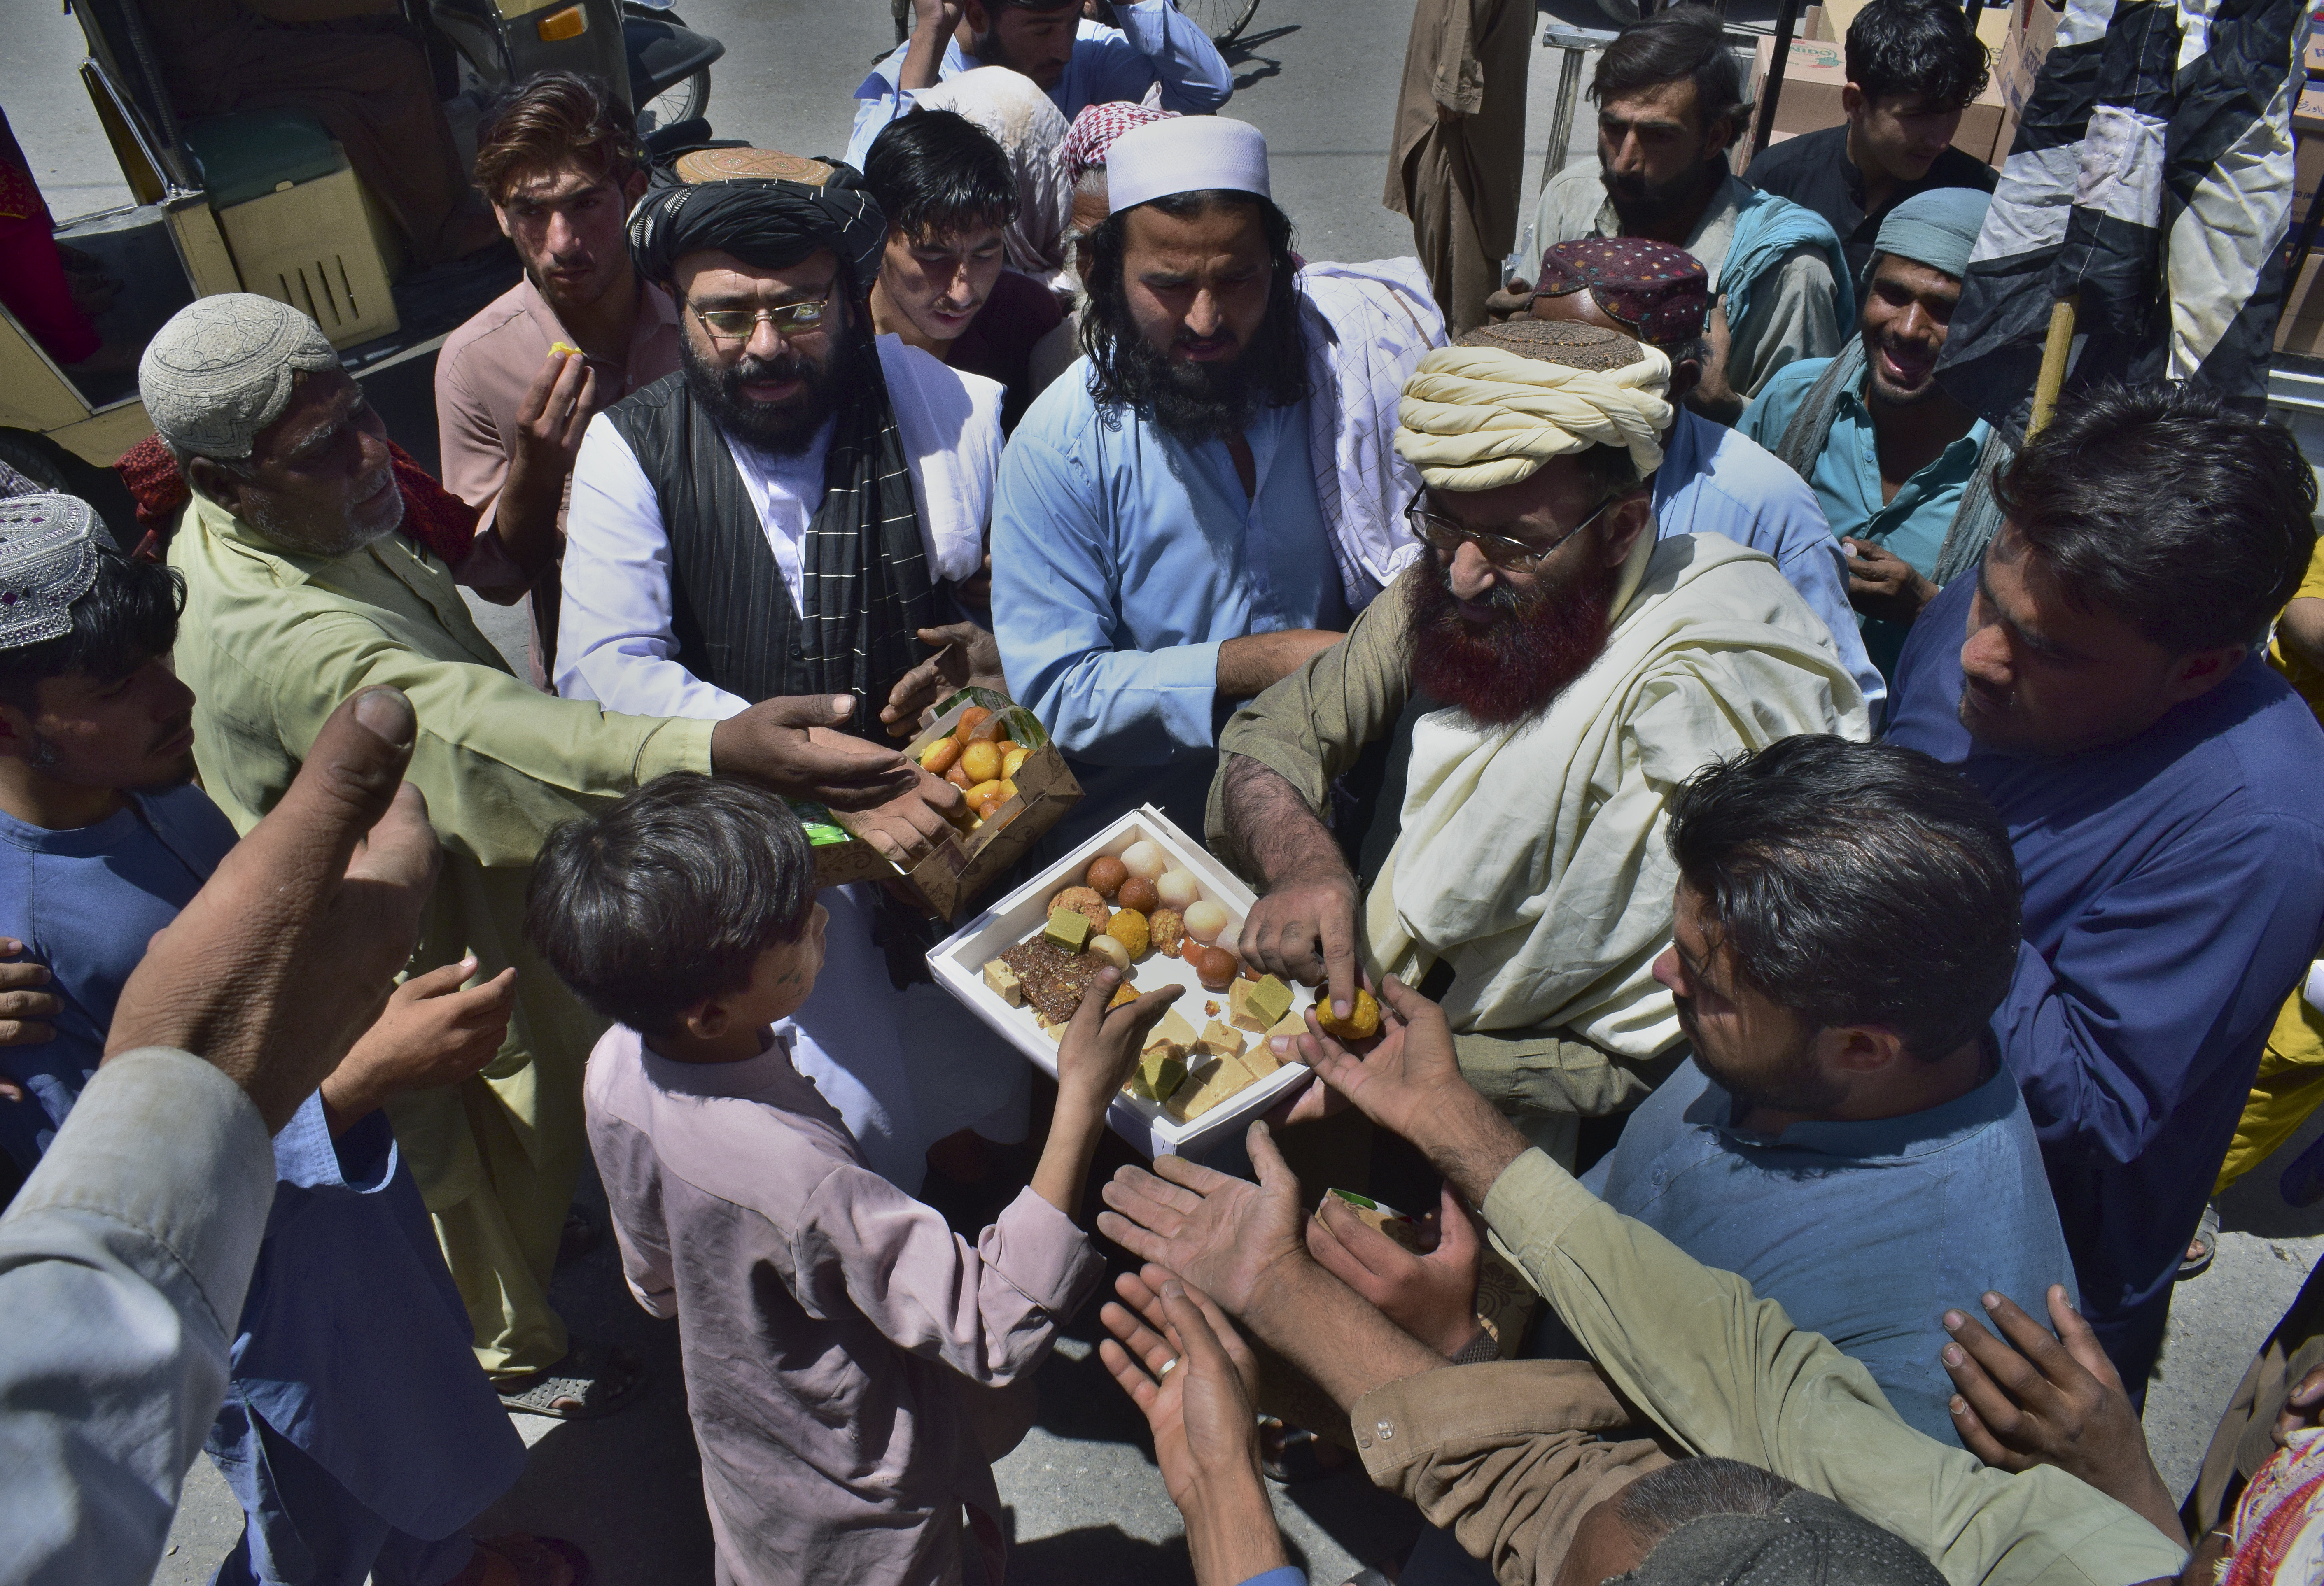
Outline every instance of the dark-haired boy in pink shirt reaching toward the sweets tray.
<svg viewBox="0 0 2324 1586">
<path fill-rule="evenodd" d="M 1099 1277 L 1074 1210 L 1176 987 L 1106 1012 L 1118 975 L 1099 975 L 1032 1187 L 969 1245 L 790 1066 L 823 920 L 797 815 L 695 773 L 560 827 L 528 899 L 535 945 L 614 1019 L 583 1084 L 590 1149 L 630 1293 L 679 1319 L 720 1586 L 957 1581 L 962 1505 L 997 1581 L 992 1461 L 1030 1419 L 1002 1389 L 1030 1391 Z"/>
</svg>

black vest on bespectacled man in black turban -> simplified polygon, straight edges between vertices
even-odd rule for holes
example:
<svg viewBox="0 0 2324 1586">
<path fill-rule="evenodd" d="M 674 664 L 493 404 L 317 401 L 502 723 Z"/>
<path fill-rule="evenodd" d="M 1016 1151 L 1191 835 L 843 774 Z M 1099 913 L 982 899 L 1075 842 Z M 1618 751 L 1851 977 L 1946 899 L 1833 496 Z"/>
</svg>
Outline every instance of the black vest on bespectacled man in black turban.
<svg viewBox="0 0 2324 1586">
<path fill-rule="evenodd" d="M 799 643 L 799 608 L 767 529 L 725 434 L 686 390 L 686 376 L 669 374 L 632 392 L 607 409 L 607 420 L 630 444 L 662 506 L 676 659 L 711 687 L 753 704 L 818 692 Z"/>
</svg>

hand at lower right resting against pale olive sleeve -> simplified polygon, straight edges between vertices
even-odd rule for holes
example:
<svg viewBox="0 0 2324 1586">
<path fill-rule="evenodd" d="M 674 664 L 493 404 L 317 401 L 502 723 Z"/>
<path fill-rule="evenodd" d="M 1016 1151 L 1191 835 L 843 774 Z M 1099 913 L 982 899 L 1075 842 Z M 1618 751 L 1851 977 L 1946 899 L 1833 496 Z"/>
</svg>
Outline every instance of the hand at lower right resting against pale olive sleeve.
<svg viewBox="0 0 2324 1586">
<path fill-rule="evenodd" d="M 2050 1284 L 2047 1298 L 2057 1335 L 2006 1293 L 1985 1296 L 1985 1312 L 2003 1338 L 1987 1333 L 1966 1312 L 1945 1312 L 1952 1342 L 1943 1363 L 1959 1389 L 1952 1396 L 1952 1421 L 1961 1447 L 1996 1470 L 2057 1465 L 2136 1509 L 2185 1547 L 2178 1505 L 2154 1470 L 2122 1377 L 2096 1333 L 2066 1300 L 2066 1286 Z"/>
</svg>

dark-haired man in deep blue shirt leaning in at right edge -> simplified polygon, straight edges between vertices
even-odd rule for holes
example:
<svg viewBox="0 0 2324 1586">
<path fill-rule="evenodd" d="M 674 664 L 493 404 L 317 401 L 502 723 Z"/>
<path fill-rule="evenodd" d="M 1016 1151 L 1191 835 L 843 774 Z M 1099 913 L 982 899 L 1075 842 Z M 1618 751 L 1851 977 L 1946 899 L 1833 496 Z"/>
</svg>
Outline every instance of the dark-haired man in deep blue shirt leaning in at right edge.
<svg viewBox="0 0 2324 1586">
<path fill-rule="evenodd" d="M 2003 474 L 2006 527 L 1889 694 L 1887 738 L 1957 762 L 2008 822 L 2024 947 L 1994 1033 L 2133 1400 L 2324 936 L 2324 731 L 2257 653 L 2315 502 L 2275 425 L 2187 388 L 2078 397 Z"/>
</svg>

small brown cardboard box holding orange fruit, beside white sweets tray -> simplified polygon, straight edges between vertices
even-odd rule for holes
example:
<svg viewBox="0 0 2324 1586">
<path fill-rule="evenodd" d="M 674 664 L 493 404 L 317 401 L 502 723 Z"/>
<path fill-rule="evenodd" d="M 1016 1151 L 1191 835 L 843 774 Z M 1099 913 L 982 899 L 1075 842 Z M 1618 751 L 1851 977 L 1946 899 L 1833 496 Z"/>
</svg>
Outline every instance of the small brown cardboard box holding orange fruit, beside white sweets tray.
<svg viewBox="0 0 2324 1586">
<path fill-rule="evenodd" d="M 1039 718 L 1004 694 L 967 687 L 944 701 L 937 720 L 904 750 L 913 762 L 925 762 L 930 750 L 957 734 L 960 720 L 971 711 L 990 711 L 1009 734 L 1002 748 L 1023 748 L 1025 762 L 1018 766 L 1013 796 L 974 831 L 953 831 L 920 859 L 911 871 L 897 871 L 876 848 L 848 834 L 820 806 L 802 806 L 806 836 L 816 848 L 816 885 L 841 887 L 853 880 L 888 880 L 906 885 L 939 920 L 951 924 L 976 901 L 992 880 L 1023 857 L 1034 841 L 1064 820 L 1064 813 L 1081 803 L 1081 783 L 1064 764 L 1064 752 L 1048 741 Z"/>
</svg>

